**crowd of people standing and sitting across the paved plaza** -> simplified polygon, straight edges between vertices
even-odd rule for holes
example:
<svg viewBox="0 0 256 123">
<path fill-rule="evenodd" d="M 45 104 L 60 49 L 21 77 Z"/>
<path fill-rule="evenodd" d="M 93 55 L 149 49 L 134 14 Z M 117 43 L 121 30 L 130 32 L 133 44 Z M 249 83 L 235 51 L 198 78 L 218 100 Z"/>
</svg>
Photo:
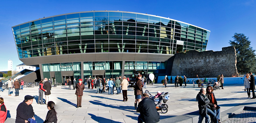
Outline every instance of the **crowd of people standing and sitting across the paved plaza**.
<svg viewBox="0 0 256 123">
<path fill-rule="evenodd" d="M 109 95 L 114 94 L 114 90 L 117 91 L 116 94 L 123 94 L 123 101 L 127 101 L 127 90 L 128 90 L 128 78 L 125 76 L 116 77 L 116 78 L 85 78 L 84 82 L 88 84 L 88 89 L 97 89 L 97 93 L 102 93 L 108 91 Z M 137 75 L 135 87 L 134 87 L 134 95 L 135 95 L 135 101 L 134 101 L 134 108 L 136 112 L 139 112 L 140 115 L 138 116 L 138 122 L 158 122 L 160 120 L 160 115 L 157 112 L 155 108 L 155 103 L 152 99 L 149 99 L 149 96 L 146 93 L 143 93 L 143 88 L 146 89 L 146 78 L 143 78 L 142 75 Z M 184 82 L 186 86 L 186 76 L 184 76 Z M 167 87 L 168 83 L 168 76 L 164 78 L 164 86 Z M 171 78 L 172 80 L 172 78 Z M 178 76 L 175 77 L 175 87 L 178 87 Z M 221 82 L 222 85 L 224 84 L 223 75 L 220 75 L 220 79 L 218 82 Z M 65 80 L 64 84 L 68 85 L 68 89 L 71 90 L 71 85 L 73 85 L 73 90 L 75 91 L 75 95 L 77 96 L 77 108 L 82 107 L 82 96 L 85 89 L 85 83 L 83 83 L 82 79 L 78 80 L 78 83 L 76 83 L 76 79 L 71 81 L 71 79 Z M 10 85 L 9 85 L 10 84 Z M 13 85 L 12 85 L 13 84 Z M 50 79 L 44 78 L 44 80 L 40 81 L 39 84 L 39 97 L 37 100 L 37 104 L 47 104 L 47 109 L 49 110 L 46 115 L 46 120 L 44 123 L 48 122 L 57 122 L 57 112 L 54 109 L 55 103 L 53 101 L 50 101 L 50 94 L 51 94 L 51 84 L 54 84 L 53 87 L 56 87 L 56 80 L 54 79 L 54 82 L 52 82 Z M 2 82 L 0 81 L 0 86 L 2 85 Z M 23 90 L 24 81 L 18 81 L 12 80 L 11 78 L 8 80 L 8 87 L 9 92 L 14 86 L 15 88 L 15 96 L 19 96 L 19 90 Z M 21 89 L 20 89 L 21 86 Z M 106 86 L 108 87 L 106 89 Z M 101 89 L 101 87 L 103 87 Z M 244 87 L 245 91 L 247 91 L 248 98 L 251 98 L 250 91 L 252 91 L 252 98 L 255 99 L 255 83 L 254 83 L 254 76 L 251 72 L 247 73 L 244 77 Z M 0 87 L 0 90 L 2 87 Z M 222 86 L 222 89 L 223 86 Z M 3 90 L 2 90 L 3 91 Z M 202 122 L 203 118 L 205 118 L 205 122 L 210 122 L 210 117 L 212 118 L 212 122 L 217 123 L 220 122 L 220 106 L 217 105 L 217 101 L 215 98 L 215 94 L 213 93 L 214 89 L 212 86 L 207 86 L 205 88 L 201 88 L 200 92 L 196 96 L 196 101 L 198 101 L 198 107 L 199 107 L 199 120 L 198 122 Z M 45 95 L 45 102 L 43 103 L 43 93 Z M 158 91 L 157 94 L 154 96 L 154 98 L 160 96 L 161 92 Z M 21 102 L 17 107 L 17 114 L 16 114 L 16 122 L 34 122 L 34 112 L 33 112 L 33 96 L 26 95 L 24 97 L 24 101 Z M 0 97 L 0 122 L 4 122 L 6 119 L 7 110 L 4 105 L 4 99 Z M 210 117 L 209 117 L 210 116 Z"/>
</svg>

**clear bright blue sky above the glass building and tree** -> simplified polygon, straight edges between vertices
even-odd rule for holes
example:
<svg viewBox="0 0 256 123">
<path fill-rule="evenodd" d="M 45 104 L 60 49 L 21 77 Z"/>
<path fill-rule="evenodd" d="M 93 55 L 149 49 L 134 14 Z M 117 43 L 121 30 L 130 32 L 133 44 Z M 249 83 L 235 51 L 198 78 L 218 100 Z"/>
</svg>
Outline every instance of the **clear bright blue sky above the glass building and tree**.
<svg viewBox="0 0 256 123">
<path fill-rule="evenodd" d="M 9 57 L 13 68 L 22 62 L 12 34 L 12 26 L 43 17 L 58 14 L 91 11 L 119 10 L 147 13 L 186 22 L 210 30 L 206 50 L 221 51 L 229 45 L 234 33 L 244 33 L 256 49 L 256 1 L 77 1 L 77 0 L 44 0 L 44 1 L 1 1 L 0 5 L 0 71 L 7 70 Z"/>
</svg>

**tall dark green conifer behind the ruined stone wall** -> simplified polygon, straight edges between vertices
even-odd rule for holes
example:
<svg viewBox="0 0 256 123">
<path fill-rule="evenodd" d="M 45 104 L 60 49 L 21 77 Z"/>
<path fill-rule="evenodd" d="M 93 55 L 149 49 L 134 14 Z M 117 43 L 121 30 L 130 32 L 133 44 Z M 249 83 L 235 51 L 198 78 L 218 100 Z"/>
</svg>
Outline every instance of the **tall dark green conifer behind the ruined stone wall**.
<svg viewBox="0 0 256 123">
<path fill-rule="evenodd" d="M 229 40 L 229 44 L 236 48 L 238 72 L 255 72 L 256 55 L 255 50 L 250 47 L 249 37 L 242 33 L 235 33 L 233 38 L 234 41 Z"/>
</svg>

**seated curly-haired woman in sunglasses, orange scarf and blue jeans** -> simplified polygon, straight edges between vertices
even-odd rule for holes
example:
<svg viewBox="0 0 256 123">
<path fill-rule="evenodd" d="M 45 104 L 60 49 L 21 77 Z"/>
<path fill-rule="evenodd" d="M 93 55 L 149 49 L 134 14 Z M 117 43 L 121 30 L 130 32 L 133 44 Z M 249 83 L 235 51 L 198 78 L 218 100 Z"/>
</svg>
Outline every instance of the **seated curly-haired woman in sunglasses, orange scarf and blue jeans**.
<svg viewBox="0 0 256 123">
<path fill-rule="evenodd" d="M 213 93 L 213 87 L 207 86 L 206 88 L 206 96 L 210 100 L 209 106 L 211 110 L 216 114 L 218 121 L 220 122 L 220 106 L 217 105 L 217 101 L 215 95 Z"/>
</svg>

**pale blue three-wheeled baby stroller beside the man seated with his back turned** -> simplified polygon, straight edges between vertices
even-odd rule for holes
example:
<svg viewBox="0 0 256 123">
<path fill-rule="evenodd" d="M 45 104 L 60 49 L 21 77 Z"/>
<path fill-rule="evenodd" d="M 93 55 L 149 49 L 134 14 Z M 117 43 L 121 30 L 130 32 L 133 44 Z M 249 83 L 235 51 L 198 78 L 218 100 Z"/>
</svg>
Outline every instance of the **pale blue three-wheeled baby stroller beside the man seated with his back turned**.
<svg viewBox="0 0 256 123">
<path fill-rule="evenodd" d="M 148 90 L 145 91 L 146 94 L 148 94 L 149 98 L 152 99 L 155 102 L 155 108 L 159 111 L 161 110 L 162 113 L 167 113 L 168 112 L 168 105 L 165 104 L 168 99 L 169 99 L 169 93 L 161 93 L 159 98 L 154 98 Z M 163 102 L 163 103 L 161 103 Z"/>
</svg>

